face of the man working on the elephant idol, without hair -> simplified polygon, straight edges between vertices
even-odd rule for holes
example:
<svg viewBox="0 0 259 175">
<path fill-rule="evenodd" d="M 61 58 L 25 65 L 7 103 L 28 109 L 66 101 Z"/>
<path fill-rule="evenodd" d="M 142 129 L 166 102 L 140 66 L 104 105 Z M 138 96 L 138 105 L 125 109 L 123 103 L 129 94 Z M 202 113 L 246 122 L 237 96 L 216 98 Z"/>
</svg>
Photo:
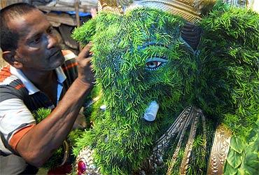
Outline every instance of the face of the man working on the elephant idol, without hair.
<svg viewBox="0 0 259 175">
<path fill-rule="evenodd" d="M 49 71 L 64 62 L 57 37 L 41 11 L 32 10 L 8 26 L 20 35 L 14 58 L 22 63 L 22 69 Z"/>
</svg>

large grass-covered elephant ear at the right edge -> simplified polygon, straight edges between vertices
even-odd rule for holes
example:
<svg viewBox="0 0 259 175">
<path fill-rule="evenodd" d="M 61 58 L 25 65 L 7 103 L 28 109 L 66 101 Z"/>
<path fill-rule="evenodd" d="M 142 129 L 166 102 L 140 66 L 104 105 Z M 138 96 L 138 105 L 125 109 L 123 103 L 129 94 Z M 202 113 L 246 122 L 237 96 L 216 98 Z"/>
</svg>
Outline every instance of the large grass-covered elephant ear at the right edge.
<svg viewBox="0 0 259 175">
<path fill-rule="evenodd" d="M 213 115 L 240 137 L 258 120 L 258 19 L 258 13 L 246 8 L 218 6 L 200 22 L 200 60 L 206 65 L 200 75 L 209 86 L 200 91 L 201 108 L 216 112 Z"/>
</svg>

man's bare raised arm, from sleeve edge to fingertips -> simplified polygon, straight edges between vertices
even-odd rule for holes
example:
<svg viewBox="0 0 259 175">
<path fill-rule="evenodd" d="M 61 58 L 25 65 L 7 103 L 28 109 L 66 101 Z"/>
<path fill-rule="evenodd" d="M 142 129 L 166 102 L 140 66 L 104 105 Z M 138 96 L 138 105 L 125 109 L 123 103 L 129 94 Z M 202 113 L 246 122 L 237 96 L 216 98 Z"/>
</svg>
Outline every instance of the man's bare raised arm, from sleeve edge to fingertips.
<svg viewBox="0 0 259 175">
<path fill-rule="evenodd" d="M 90 92 L 94 80 L 88 57 L 89 49 L 90 45 L 86 45 L 78 55 L 78 78 L 69 87 L 54 111 L 31 128 L 18 142 L 16 151 L 29 164 L 41 167 L 66 139 L 73 127 L 84 97 Z"/>
</svg>

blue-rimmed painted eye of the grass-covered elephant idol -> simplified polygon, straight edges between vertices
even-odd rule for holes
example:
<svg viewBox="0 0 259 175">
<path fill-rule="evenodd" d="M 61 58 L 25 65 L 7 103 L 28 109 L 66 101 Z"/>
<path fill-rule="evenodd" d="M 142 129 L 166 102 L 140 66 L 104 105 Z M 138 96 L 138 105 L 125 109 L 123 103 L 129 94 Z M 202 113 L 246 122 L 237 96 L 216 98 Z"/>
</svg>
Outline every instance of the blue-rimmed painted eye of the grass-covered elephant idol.
<svg viewBox="0 0 259 175">
<path fill-rule="evenodd" d="M 160 69 L 160 67 L 167 64 L 166 57 L 151 57 L 146 59 L 146 65 L 145 68 L 148 71 L 154 71 Z"/>
</svg>

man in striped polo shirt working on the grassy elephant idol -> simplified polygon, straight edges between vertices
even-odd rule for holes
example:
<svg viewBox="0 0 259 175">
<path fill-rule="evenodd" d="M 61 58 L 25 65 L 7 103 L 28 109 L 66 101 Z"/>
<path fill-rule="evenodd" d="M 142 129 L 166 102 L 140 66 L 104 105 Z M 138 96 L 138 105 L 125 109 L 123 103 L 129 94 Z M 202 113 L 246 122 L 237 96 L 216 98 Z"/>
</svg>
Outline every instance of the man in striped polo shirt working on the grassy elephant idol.
<svg viewBox="0 0 259 175">
<path fill-rule="evenodd" d="M 29 174 L 27 164 L 41 167 L 62 144 L 92 88 L 90 45 L 75 61 L 40 10 L 16 3 L 1 10 L 1 49 L 10 64 L 0 71 L 1 174 Z M 53 110 L 36 125 L 41 107 Z"/>
</svg>

